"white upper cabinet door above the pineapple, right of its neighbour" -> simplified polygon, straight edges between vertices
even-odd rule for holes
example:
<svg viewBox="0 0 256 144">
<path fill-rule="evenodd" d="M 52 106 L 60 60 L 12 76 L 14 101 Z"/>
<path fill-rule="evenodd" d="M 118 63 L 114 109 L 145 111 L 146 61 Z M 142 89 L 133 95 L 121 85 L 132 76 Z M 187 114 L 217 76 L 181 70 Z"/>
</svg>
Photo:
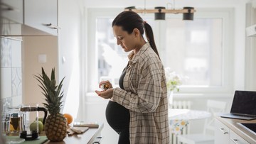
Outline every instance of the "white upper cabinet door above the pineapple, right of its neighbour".
<svg viewBox="0 0 256 144">
<path fill-rule="evenodd" d="M 51 35 L 58 30 L 58 0 L 24 0 L 24 24 Z"/>
</svg>

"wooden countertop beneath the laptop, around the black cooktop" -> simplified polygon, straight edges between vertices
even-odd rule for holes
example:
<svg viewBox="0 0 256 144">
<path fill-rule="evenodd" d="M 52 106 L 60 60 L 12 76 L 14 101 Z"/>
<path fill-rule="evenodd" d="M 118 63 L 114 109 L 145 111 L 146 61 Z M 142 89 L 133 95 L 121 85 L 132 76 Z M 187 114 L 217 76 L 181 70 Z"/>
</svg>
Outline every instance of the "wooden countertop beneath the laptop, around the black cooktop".
<svg viewBox="0 0 256 144">
<path fill-rule="evenodd" d="M 256 135 L 247 131 L 245 128 L 240 126 L 238 123 L 256 123 L 256 120 L 246 121 L 234 118 L 222 118 L 220 116 L 216 116 L 216 118 L 228 126 L 232 131 L 240 135 L 240 137 L 244 138 L 248 143 L 256 143 Z"/>
</svg>

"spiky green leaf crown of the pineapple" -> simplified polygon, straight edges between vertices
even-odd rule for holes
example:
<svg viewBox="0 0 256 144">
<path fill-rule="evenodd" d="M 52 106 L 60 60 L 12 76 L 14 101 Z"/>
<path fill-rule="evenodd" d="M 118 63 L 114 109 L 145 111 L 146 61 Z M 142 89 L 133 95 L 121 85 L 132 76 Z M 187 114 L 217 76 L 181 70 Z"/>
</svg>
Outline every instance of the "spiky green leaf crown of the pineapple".
<svg viewBox="0 0 256 144">
<path fill-rule="evenodd" d="M 59 85 L 56 85 L 55 69 L 52 69 L 49 78 L 43 70 L 43 67 L 42 74 L 34 75 L 34 77 L 40 83 L 38 86 L 43 90 L 42 93 L 46 97 L 46 103 L 43 103 L 43 105 L 46 106 L 46 109 L 48 109 L 50 114 L 55 115 L 60 113 L 60 109 L 63 106 L 63 92 L 61 92 L 61 89 L 63 87 L 63 80 L 65 77 L 60 81 Z"/>
</svg>

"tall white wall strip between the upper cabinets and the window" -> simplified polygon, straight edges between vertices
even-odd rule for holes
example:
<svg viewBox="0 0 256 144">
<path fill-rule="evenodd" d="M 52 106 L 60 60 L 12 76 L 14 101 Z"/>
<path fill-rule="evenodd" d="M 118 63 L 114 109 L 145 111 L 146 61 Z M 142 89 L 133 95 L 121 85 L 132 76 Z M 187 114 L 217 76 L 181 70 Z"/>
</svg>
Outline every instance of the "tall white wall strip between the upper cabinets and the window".
<svg viewBox="0 0 256 144">
<path fill-rule="evenodd" d="M 58 66 L 59 79 L 65 77 L 63 113 L 75 118 L 78 114 L 80 96 L 80 50 L 82 1 L 58 1 Z"/>
</svg>

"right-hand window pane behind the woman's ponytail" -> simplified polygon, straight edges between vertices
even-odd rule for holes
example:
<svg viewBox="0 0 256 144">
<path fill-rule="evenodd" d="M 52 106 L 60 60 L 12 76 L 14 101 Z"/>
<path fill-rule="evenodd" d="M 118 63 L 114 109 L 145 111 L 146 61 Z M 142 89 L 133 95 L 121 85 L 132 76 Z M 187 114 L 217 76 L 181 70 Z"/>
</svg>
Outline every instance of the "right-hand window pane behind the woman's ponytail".
<svg viewBox="0 0 256 144">
<path fill-rule="evenodd" d="M 165 66 L 188 77 L 187 86 L 221 87 L 222 18 L 166 20 Z"/>
</svg>

